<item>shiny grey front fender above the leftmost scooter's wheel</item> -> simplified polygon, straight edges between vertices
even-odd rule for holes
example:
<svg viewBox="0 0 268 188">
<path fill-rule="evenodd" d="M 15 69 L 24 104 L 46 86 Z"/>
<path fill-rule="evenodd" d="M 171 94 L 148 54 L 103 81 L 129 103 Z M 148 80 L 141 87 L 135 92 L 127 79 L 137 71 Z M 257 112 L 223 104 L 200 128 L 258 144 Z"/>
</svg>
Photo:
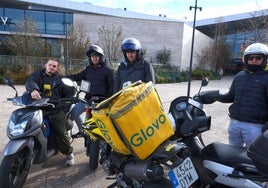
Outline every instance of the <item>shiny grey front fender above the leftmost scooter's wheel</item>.
<svg viewBox="0 0 268 188">
<path fill-rule="evenodd" d="M 10 140 L 3 150 L 3 155 L 13 155 L 25 147 L 29 149 L 31 154 L 33 153 L 34 139 L 32 137 L 20 140 Z"/>
</svg>

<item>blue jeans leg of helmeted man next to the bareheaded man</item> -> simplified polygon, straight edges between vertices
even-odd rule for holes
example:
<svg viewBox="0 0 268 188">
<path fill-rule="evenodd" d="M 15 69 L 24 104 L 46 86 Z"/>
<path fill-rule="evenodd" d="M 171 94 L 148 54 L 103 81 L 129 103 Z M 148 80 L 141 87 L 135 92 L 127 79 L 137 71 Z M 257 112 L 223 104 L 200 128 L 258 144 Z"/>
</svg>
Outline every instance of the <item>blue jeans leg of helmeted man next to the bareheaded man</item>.
<svg viewBox="0 0 268 188">
<path fill-rule="evenodd" d="M 71 110 L 71 116 L 74 119 L 75 123 L 78 126 L 78 130 L 80 132 L 83 131 L 82 123 L 85 121 L 85 116 L 82 114 L 85 112 L 85 104 L 84 103 L 77 103 Z"/>
</svg>

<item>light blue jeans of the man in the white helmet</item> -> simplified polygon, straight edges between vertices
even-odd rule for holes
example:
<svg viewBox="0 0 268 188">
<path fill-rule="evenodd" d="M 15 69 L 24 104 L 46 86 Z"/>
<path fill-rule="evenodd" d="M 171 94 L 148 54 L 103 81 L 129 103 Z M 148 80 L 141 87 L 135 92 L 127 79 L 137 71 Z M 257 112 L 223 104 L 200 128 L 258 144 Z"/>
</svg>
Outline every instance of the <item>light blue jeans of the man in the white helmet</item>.
<svg viewBox="0 0 268 188">
<path fill-rule="evenodd" d="M 262 134 L 263 124 L 247 123 L 230 119 L 228 127 L 229 144 L 249 147 Z"/>
</svg>

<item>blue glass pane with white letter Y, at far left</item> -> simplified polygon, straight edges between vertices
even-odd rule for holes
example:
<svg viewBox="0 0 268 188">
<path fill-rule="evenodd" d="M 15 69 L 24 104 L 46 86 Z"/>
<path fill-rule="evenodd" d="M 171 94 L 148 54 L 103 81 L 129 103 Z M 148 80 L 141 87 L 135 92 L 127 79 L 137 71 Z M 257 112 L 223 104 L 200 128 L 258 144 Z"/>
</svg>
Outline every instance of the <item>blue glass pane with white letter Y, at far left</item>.
<svg viewBox="0 0 268 188">
<path fill-rule="evenodd" d="M 4 30 L 14 31 L 15 25 L 24 20 L 24 10 L 5 8 L 4 16 L 8 17 L 8 24 L 4 26 Z"/>
</svg>

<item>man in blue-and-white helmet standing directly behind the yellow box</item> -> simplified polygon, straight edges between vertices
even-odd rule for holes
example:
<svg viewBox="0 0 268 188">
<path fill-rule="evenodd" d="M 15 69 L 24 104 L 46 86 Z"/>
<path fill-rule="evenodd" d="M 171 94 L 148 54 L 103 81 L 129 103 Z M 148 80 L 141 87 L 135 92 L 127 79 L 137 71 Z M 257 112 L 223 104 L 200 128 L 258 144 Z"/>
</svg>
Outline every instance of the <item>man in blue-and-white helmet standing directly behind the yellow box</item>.
<svg viewBox="0 0 268 188">
<path fill-rule="evenodd" d="M 121 50 L 124 61 L 120 63 L 116 72 L 116 92 L 139 80 L 155 83 L 153 67 L 143 59 L 141 44 L 137 39 L 126 38 L 123 40 Z"/>
</svg>

